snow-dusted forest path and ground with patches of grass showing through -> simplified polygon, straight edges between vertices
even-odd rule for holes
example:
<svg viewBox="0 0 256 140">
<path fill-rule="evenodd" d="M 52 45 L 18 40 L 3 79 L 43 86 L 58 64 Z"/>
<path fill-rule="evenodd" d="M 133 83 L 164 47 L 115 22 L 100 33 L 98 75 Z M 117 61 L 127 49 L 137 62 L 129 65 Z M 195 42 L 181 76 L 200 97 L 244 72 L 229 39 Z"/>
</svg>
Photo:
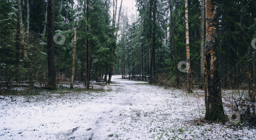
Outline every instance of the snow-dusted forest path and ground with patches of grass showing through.
<svg viewBox="0 0 256 140">
<path fill-rule="evenodd" d="M 252 128 L 200 123 L 200 92 L 120 78 L 99 92 L 0 96 L 0 139 L 256 139 Z"/>
</svg>

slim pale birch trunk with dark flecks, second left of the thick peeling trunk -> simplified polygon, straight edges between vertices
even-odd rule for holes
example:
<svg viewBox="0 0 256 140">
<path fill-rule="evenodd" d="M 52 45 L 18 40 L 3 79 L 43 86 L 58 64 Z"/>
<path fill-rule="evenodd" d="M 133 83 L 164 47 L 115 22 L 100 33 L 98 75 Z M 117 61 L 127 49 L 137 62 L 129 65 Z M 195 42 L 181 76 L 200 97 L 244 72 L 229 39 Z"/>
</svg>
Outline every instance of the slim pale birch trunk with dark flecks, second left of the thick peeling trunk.
<svg viewBox="0 0 256 140">
<path fill-rule="evenodd" d="M 185 0 L 185 20 L 186 20 L 186 53 L 187 53 L 187 92 L 191 93 L 191 68 L 189 51 L 189 29 L 188 29 L 188 0 Z"/>
</svg>

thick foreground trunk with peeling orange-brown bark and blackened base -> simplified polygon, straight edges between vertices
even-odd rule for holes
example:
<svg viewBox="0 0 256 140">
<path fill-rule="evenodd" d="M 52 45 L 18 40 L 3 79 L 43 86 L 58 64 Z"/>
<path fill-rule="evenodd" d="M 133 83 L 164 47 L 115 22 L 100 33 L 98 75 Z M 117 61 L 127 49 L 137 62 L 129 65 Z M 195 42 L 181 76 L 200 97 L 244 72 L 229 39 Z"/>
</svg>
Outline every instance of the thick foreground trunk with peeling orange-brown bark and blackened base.
<svg viewBox="0 0 256 140">
<path fill-rule="evenodd" d="M 226 121 L 222 105 L 217 60 L 216 3 L 206 0 L 206 38 L 204 46 L 205 120 Z"/>
</svg>

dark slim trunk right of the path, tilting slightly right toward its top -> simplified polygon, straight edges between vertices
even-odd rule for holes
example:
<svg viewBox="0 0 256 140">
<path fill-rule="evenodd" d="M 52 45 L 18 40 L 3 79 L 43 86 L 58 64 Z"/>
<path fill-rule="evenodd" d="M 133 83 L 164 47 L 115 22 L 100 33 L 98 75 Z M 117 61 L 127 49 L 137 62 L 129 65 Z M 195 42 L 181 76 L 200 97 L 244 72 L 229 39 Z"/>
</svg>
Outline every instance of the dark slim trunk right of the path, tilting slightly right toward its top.
<svg viewBox="0 0 256 140">
<path fill-rule="evenodd" d="M 155 0 L 153 0 L 153 28 L 152 28 L 152 46 L 151 46 L 151 56 L 149 61 L 149 84 L 152 84 L 152 63 L 154 57 L 154 47 L 155 47 Z"/>
</svg>

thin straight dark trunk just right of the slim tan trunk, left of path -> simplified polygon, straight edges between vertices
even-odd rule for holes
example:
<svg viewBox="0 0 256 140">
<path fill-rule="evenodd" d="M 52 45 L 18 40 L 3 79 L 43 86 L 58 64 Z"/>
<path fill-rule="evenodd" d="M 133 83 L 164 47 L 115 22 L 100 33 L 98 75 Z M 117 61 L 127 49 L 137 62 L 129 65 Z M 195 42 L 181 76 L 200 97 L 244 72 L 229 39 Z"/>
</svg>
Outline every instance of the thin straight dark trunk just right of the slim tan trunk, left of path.
<svg viewBox="0 0 256 140">
<path fill-rule="evenodd" d="M 87 20 L 87 24 L 89 22 L 89 0 L 87 0 L 87 6 L 86 6 L 86 20 Z M 86 28 L 86 32 L 88 33 L 89 31 L 89 25 L 87 25 L 87 28 Z M 90 86 L 90 76 L 89 76 L 89 73 L 90 73 L 90 67 L 89 67 L 89 37 L 87 36 L 87 39 L 86 39 L 86 89 L 89 89 L 89 86 Z"/>
</svg>

